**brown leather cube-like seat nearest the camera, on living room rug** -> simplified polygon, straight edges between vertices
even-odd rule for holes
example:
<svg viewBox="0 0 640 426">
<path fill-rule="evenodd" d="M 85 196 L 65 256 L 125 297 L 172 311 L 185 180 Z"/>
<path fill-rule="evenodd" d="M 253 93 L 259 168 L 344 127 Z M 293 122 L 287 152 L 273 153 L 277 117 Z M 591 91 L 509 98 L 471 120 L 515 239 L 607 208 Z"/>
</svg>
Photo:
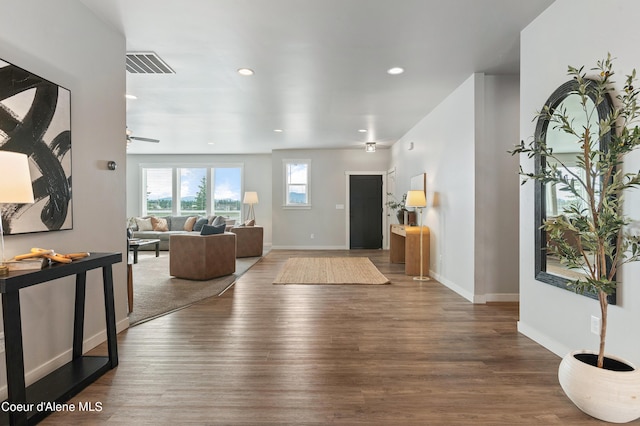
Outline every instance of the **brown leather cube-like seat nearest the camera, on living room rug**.
<svg viewBox="0 0 640 426">
<path fill-rule="evenodd" d="M 208 280 L 236 271 L 236 235 L 172 235 L 169 274 L 188 280 Z"/>
</svg>

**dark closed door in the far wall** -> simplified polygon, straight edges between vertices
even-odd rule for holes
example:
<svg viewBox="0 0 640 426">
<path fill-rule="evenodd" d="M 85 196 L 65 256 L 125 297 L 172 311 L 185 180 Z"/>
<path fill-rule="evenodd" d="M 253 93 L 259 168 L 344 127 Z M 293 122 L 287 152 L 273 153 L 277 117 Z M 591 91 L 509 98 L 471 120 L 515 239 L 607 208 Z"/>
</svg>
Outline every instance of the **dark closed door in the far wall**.
<svg viewBox="0 0 640 426">
<path fill-rule="evenodd" d="M 382 176 L 349 176 L 349 213 L 349 247 L 382 248 Z"/>
</svg>

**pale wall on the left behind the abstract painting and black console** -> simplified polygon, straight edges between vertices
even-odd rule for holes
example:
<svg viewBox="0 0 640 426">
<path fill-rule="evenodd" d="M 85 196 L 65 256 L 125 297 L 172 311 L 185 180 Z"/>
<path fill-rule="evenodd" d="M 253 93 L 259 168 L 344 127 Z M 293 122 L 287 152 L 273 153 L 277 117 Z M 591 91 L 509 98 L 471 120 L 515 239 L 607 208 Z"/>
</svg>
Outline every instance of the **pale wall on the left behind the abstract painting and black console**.
<svg viewBox="0 0 640 426">
<path fill-rule="evenodd" d="M 6 254 L 123 252 L 125 40 L 74 0 L 0 0 L 0 58 L 71 91 L 73 230 L 6 238 Z M 106 163 L 116 161 L 117 171 Z M 0 171 L 1 173 L 1 171 Z M 126 264 L 114 267 L 116 320 L 128 326 Z M 27 382 L 71 359 L 74 280 L 20 292 Z M 102 277 L 87 275 L 85 349 L 105 340 Z M 4 356 L 0 357 L 6 395 Z"/>
</svg>

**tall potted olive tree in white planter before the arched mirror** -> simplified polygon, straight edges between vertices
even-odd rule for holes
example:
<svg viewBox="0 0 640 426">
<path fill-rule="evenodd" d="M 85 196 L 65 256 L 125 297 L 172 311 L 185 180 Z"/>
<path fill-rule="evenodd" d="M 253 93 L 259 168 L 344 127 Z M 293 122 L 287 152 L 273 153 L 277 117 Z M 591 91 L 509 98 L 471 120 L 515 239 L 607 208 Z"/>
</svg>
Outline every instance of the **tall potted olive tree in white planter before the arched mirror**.
<svg viewBox="0 0 640 426">
<path fill-rule="evenodd" d="M 541 160 L 541 167 L 533 173 L 520 170 L 525 177 L 523 183 L 533 179 L 573 196 L 575 201 L 563 209 L 562 215 L 543 222 L 546 250 L 566 267 L 582 270 L 583 277 L 569 285 L 579 293 L 595 293 L 600 304 L 599 349 L 597 353 L 576 351 L 567 355 L 558 372 L 560 384 L 582 411 L 623 423 L 640 417 L 640 371 L 624 360 L 605 355 L 607 298 L 616 290 L 620 266 L 640 260 L 639 236 L 630 232 L 632 221 L 623 212 L 623 194 L 640 186 L 640 171 L 622 171 L 625 157 L 640 147 L 640 92 L 634 87 L 635 70 L 626 76 L 623 90 L 616 92 L 611 55 L 598 61 L 589 76 L 584 67 L 570 66 L 568 74 L 574 79 L 583 118 L 574 120 L 566 109 L 548 106 L 538 118 L 548 120 L 549 126 L 579 144 L 579 154 L 571 160 L 571 167 L 544 138 L 527 146 L 521 143 L 511 154 Z M 606 98 L 615 102 L 606 117 L 599 117 L 595 110 Z M 599 141 L 605 135 L 610 143 L 601 148 Z"/>
</svg>

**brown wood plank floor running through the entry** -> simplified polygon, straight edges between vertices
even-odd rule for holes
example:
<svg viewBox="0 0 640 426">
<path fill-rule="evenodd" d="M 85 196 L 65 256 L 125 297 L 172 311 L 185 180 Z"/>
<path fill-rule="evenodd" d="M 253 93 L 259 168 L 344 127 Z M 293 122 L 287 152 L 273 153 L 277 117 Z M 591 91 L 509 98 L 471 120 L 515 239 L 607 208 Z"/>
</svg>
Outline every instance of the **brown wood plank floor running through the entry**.
<svg viewBox="0 0 640 426">
<path fill-rule="evenodd" d="M 369 256 L 390 285 L 273 285 L 290 256 Z M 272 251 L 221 297 L 118 336 L 120 364 L 43 425 L 586 425 L 560 359 L 387 251 Z M 93 353 L 106 352 L 104 345 Z"/>
</svg>

